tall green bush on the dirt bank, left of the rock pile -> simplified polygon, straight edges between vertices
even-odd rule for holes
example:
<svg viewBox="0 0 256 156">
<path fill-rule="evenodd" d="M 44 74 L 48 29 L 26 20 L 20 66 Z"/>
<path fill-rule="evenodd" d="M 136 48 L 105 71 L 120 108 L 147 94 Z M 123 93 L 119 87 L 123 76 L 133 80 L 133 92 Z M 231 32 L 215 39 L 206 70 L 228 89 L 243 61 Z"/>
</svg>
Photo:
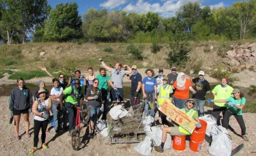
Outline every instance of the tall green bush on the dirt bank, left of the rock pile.
<svg viewBox="0 0 256 156">
<path fill-rule="evenodd" d="M 168 64 L 185 65 L 188 61 L 187 54 L 191 51 L 188 41 L 185 39 L 184 33 L 176 33 L 170 37 L 170 52 L 168 53 Z"/>
</svg>

